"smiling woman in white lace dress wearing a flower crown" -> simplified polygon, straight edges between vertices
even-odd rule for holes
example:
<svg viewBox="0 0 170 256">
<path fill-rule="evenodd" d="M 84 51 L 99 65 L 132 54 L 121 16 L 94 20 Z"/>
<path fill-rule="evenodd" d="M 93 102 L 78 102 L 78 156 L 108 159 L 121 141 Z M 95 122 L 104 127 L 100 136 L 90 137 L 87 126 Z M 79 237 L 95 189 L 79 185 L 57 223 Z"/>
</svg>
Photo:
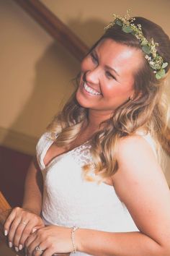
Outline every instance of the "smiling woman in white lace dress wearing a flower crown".
<svg viewBox="0 0 170 256">
<path fill-rule="evenodd" d="M 127 14 L 107 26 L 81 62 L 76 93 L 37 143 L 23 208 L 4 224 L 10 247 L 170 255 L 170 192 L 158 164 L 169 63 L 169 38 L 155 23 Z"/>
</svg>

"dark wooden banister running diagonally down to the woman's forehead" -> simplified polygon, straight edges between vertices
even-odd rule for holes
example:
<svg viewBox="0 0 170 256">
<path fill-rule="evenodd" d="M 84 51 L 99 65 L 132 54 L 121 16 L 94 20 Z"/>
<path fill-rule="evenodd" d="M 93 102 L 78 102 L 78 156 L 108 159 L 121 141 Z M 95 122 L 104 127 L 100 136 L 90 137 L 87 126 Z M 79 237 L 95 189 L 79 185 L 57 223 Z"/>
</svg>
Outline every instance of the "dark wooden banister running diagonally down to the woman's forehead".
<svg viewBox="0 0 170 256">
<path fill-rule="evenodd" d="M 53 38 L 81 61 L 88 47 L 39 0 L 14 0 L 30 14 Z"/>
</svg>

